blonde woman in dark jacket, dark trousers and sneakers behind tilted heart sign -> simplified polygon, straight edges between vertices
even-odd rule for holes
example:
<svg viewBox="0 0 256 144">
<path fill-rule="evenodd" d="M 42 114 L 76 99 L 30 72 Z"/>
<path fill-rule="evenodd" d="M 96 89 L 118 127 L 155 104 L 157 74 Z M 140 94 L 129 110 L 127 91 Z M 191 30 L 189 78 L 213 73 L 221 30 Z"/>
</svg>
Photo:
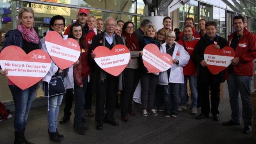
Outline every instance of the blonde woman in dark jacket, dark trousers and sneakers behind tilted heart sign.
<svg viewBox="0 0 256 144">
<path fill-rule="evenodd" d="M 139 42 L 139 50 L 143 51 L 147 44 L 155 44 L 159 47 L 159 42 L 156 39 L 156 28 L 151 24 L 145 28 L 144 37 Z M 149 113 L 153 116 L 157 116 L 158 113 L 154 109 L 154 98 L 158 74 L 148 72 L 148 69 L 144 66 L 142 56 L 140 56 L 138 60 L 140 66 L 141 103 L 143 108 L 141 115 L 147 117 Z"/>
</svg>

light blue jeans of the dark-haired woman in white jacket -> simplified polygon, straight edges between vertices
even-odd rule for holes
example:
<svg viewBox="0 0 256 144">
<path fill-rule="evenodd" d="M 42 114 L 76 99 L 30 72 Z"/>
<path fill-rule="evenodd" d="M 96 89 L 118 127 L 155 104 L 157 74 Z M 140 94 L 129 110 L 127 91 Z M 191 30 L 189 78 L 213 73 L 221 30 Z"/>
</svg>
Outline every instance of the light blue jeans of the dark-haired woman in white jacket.
<svg viewBox="0 0 256 144">
<path fill-rule="evenodd" d="M 49 132 L 56 132 L 58 127 L 59 106 L 62 104 L 63 95 L 49 97 L 49 110 L 47 112 L 47 123 Z"/>
</svg>

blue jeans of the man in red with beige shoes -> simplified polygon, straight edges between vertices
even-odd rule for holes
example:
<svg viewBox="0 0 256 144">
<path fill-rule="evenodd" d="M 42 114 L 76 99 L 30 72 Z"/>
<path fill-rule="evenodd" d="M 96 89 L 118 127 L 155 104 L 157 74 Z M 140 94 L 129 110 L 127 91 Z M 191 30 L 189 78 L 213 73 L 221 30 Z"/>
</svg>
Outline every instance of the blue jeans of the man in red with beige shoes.
<svg viewBox="0 0 256 144">
<path fill-rule="evenodd" d="M 197 77 L 196 76 L 185 76 L 184 83 L 180 86 L 181 98 L 180 105 L 185 106 L 187 102 L 187 78 L 190 81 L 190 90 L 191 90 L 191 101 L 192 107 L 197 108 Z"/>
</svg>

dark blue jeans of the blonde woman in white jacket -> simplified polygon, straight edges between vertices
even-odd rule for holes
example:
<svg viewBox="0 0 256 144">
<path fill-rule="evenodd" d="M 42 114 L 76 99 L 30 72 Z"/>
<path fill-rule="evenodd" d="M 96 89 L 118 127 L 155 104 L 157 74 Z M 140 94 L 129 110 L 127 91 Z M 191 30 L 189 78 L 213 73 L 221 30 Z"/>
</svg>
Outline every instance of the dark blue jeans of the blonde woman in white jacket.
<svg viewBox="0 0 256 144">
<path fill-rule="evenodd" d="M 161 85 L 160 87 L 163 92 L 165 112 L 177 114 L 180 83 L 168 83 L 168 85 Z"/>
</svg>

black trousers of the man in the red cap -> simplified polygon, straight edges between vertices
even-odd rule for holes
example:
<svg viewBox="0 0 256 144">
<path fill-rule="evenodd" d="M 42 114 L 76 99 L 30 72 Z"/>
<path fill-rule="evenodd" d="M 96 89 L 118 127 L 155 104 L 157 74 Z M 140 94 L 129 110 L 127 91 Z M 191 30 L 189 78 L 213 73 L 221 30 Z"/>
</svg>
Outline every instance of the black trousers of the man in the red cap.
<svg viewBox="0 0 256 144">
<path fill-rule="evenodd" d="M 65 107 L 64 107 L 64 116 L 70 117 L 71 116 L 71 108 L 73 104 L 73 89 L 66 89 L 66 94 L 65 94 Z"/>
</svg>

